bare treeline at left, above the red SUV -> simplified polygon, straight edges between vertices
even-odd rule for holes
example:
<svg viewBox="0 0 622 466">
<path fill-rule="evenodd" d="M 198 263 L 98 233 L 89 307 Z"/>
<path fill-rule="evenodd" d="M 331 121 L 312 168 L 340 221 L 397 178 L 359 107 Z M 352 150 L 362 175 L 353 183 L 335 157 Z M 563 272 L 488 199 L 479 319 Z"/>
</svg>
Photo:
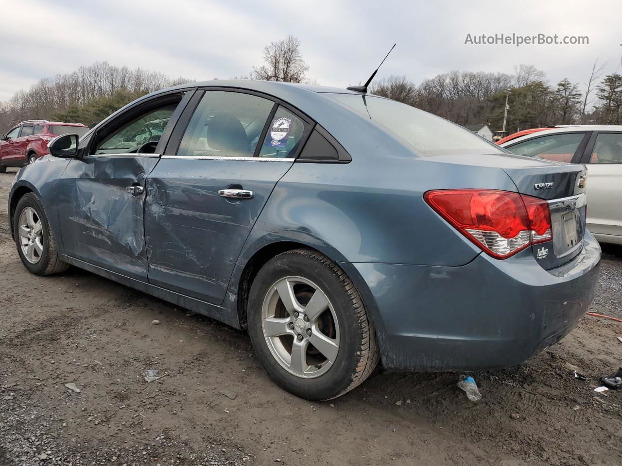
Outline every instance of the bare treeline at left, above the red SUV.
<svg viewBox="0 0 622 466">
<path fill-rule="evenodd" d="M 73 73 L 43 78 L 0 103 L 0 132 L 27 119 L 80 122 L 92 127 L 140 96 L 188 81 L 107 62 L 80 66 Z"/>
</svg>

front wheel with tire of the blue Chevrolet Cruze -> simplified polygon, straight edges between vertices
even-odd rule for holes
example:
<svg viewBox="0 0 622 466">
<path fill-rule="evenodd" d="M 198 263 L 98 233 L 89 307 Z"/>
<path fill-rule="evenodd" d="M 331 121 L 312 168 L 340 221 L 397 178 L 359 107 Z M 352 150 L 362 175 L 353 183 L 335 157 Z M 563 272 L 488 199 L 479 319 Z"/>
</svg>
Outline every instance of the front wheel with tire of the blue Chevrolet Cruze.
<svg viewBox="0 0 622 466">
<path fill-rule="evenodd" d="M 15 209 L 13 236 L 24 267 L 35 275 L 51 275 L 67 270 L 62 262 L 52 228 L 41 201 L 34 193 L 24 194 Z"/>
</svg>

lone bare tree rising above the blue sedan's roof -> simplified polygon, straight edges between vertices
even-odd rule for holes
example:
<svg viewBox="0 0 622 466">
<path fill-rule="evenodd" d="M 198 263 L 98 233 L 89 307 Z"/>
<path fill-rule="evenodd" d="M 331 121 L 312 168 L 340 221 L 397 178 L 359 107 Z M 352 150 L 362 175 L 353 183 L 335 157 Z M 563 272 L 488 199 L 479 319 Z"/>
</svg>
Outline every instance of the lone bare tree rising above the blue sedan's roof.
<svg viewBox="0 0 622 466">
<path fill-rule="evenodd" d="M 251 76 L 256 80 L 302 83 L 309 66 L 300 53 L 300 40 L 293 35 L 271 42 L 264 47 L 264 65 L 253 66 Z"/>
</svg>

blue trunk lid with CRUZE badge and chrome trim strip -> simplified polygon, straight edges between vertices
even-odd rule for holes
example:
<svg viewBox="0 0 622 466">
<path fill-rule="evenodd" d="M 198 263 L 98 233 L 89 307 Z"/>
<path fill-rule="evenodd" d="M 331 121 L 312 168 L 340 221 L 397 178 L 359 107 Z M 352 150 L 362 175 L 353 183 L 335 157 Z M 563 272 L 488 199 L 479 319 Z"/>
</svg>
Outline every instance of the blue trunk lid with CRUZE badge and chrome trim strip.
<svg viewBox="0 0 622 466">
<path fill-rule="evenodd" d="M 519 193 L 549 203 L 553 239 L 531 246 L 542 268 L 559 267 L 582 250 L 587 208 L 585 165 L 510 154 L 439 155 L 434 159 L 500 168 L 508 174 Z"/>
</svg>

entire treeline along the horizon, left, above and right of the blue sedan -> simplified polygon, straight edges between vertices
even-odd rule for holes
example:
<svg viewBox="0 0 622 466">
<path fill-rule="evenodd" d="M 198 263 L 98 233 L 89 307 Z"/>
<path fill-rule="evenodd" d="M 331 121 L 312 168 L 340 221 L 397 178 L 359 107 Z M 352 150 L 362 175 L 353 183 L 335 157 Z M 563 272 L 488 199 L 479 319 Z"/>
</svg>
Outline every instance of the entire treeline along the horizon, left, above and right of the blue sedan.
<svg viewBox="0 0 622 466">
<path fill-rule="evenodd" d="M 508 99 L 508 133 L 555 124 L 620 124 L 622 76 L 602 76 L 605 65 L 594 63 L 583 83 L 564 79 L 549 85 L 544 71 L 519 65 L 514 74 L 450 71 L 415 85 L 406 76 L 372 83 L 370 92 L 418 107 L 458 124 L 488 123 L 501 130 Z M 293 36 L 264 48 L 264 65 L 254 67 L 255 79 L 312 82 Z M 94 126 L 104 117 L 144 94 L 189 82 L 162 73 L 98 62 L 73 73 L 44 78 L 27 91 L 0 103 L 0 132 L 26 119 L 81 122 Z"/>
</svg>

